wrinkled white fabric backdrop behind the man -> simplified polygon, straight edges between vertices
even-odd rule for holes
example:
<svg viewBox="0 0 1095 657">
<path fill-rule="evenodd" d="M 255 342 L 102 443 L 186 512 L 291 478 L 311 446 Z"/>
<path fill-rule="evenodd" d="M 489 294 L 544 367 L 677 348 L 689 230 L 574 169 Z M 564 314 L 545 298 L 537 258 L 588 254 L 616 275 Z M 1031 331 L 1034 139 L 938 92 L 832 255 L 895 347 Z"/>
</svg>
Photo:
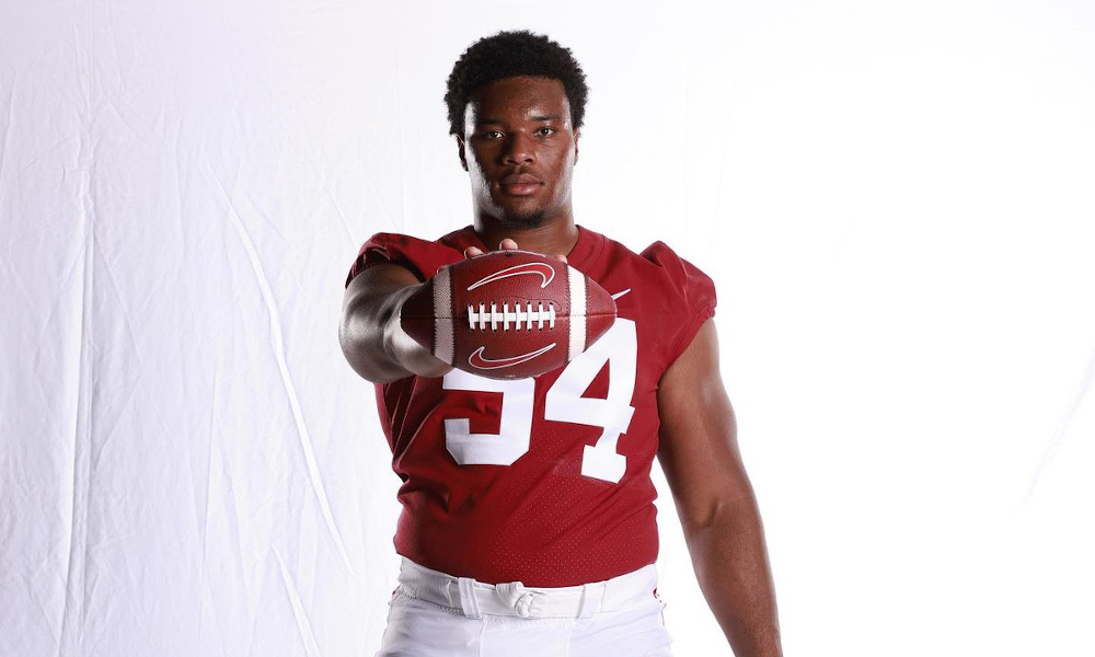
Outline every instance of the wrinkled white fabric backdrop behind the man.
<svg viewBox="0 0 1095 657">
<path fill-rule="evenodd" d="M 372 655 L 342 284 L 470 221 L 443 83 L 503 27 L 589 76 L 578 222 L 718 286 L 787 654 L 1095 655 L 1095 5 L 591 4 L 0 2 L 0 655 Z"/>
</svg>

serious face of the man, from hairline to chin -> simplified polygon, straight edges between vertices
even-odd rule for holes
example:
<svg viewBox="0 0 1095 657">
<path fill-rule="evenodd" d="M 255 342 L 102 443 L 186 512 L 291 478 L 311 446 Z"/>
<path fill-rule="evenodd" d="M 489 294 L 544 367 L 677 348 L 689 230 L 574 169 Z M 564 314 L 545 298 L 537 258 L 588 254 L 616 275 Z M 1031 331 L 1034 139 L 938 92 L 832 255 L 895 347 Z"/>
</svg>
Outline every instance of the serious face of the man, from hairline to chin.
<svg viewBox="0 0 1095 657">
<path fill-rule="evenodd" d="M 458 146 L 479 217 L 514 228 L 569 217 L 578 136 L 558 80 L 518 77 L 483 87 L 464 110 Z"/>
</svg>

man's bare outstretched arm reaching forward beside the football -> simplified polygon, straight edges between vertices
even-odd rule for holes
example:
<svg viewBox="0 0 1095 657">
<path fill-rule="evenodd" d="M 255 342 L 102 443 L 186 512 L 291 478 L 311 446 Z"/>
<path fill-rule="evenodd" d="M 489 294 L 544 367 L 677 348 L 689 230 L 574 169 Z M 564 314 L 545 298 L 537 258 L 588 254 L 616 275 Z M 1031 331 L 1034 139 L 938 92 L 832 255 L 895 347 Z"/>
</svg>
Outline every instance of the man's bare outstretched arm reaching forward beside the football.
<svg viewBox="0 0 1095 657">
<path fill-rule="evenodd" d="M 406 267 L 384 264 L 361 272 L 346 288 L 338 343 L 362 378 L 388 383 L 411 374 L 440 377 L 452 369 L 400 326 L 400 309 L 419 287 Z"/>
</svg>

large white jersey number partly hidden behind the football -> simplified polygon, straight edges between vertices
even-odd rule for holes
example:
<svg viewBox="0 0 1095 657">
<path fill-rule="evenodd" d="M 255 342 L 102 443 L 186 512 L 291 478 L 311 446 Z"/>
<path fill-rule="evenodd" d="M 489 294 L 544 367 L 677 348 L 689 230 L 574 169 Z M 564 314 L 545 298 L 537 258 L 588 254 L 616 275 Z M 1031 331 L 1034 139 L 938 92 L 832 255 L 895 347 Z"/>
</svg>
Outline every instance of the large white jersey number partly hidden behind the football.
<svg viewBox="0 0 1095 657">
<path fill-rule="evenodd" d="M 616 453 L 620 436 L 627 433 L 635 408 L 638 339 L 635 322 L 618 318 L 593 346 L 572 360 L 552 383 L 544 399 L 544 419 L 569 422 L 601 428 L 593 445 L 585 446 L 581 474 L 619 482 L 627 469 L 626 459 Z M 604 364 L 609 366 L 609 391 L 606 399 L 588 399 L 589 388 Z M 441 380 L 446 390 L 502 393 L 502 417 L 497 434 L 472 434 L 466 417 L 445 420 L 445 446 L 461 465 L 511 465 L 529 451 L 532 435 L 534 379 L 499 381 L 454 369 Z"/>
</svg>

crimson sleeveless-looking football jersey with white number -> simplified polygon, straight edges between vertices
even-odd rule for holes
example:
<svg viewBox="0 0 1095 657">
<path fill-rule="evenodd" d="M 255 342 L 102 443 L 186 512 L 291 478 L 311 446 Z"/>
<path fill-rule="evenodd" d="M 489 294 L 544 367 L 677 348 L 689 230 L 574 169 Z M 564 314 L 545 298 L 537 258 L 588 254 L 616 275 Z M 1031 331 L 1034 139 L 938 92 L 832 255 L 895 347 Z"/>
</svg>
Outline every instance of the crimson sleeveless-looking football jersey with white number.
<svg viewBox="0 0 1095 657">
<path fill-rule="evenodd" d="M 471 227 L 436 242 L 378 233 L 346 285 L 394 263 L 420 280 L 487 251 Z M 615 297 L 618 319 L 589 349 L 537 378 L 462 370 L 377 384 L 403 480 L 395 550 L 480 581 L 560 587 L 654 563 L 658 381 L 715 312 L 705 274 L 655 242 L 642 254 L 578 227 L 567 255 Z"/>
</svg>

